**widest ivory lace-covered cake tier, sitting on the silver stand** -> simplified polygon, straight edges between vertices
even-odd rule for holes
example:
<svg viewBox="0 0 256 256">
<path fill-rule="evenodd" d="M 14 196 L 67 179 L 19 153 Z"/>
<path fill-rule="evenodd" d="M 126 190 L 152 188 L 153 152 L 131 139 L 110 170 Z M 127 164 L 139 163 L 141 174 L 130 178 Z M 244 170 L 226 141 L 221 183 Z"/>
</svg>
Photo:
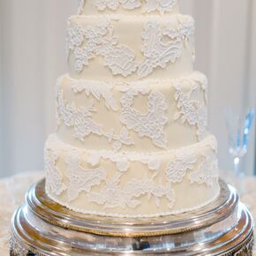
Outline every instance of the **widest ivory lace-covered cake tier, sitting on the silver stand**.
<svg viewBox="0 0 256 256">
<path fill-rule="evenodd" d="M 82 214 L 175 215 L 204 207 L 220 193 L 216 141 L 154 153 L 88 151 L 51 135 L 45 148 L 46 192 Z"/>
</svg>

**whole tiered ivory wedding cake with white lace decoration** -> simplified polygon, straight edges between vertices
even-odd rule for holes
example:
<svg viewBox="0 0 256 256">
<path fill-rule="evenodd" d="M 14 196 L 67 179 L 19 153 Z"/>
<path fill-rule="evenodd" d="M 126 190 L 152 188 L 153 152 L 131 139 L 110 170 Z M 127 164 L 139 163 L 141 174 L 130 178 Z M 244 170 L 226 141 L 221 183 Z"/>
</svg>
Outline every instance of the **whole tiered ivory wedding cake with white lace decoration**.
<svg viewBox="0 0 256 256">
<path fill-rule="evenodd" d="M 90 215 L 154 217 L 220 192 L 207 78 L 193 71 L 194 21 L 177 0 L 79 1 L 68 74 L 56 86 L 46 192 Z"/>
</svg>

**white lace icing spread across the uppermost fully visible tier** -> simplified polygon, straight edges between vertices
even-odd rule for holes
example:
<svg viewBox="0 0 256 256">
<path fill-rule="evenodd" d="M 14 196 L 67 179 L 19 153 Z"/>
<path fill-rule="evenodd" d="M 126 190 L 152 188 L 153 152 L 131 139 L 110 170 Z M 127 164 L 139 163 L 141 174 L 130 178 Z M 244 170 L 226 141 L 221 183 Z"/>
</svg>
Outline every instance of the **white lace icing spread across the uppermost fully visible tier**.
<svg viewBox="0 0 256 256">
<path fill-rule="evenodd" d="M 112 1 L 110 1 L 112 3 Z M 142 60 L 135 59 L 133 49 L 118 43 L 111 19 L 103 19 L 100 24 L 85 27 L 71 24 L 66 34 L 68 56 L 75 57 L 75 70 L 82 72 L 89 61 L 97 56 L 104 58 L 104 65 L 113 75 L 124 78 L 136 72 L 139 78 L 147 77 L 155 68 L 164 69 L 182 56 L 184 47 L 194 33 L 194 21 L 188 18 L 177 28 L 171 24 L 162 27 L 156 20 L 145 24 L 141 34 L 143 45 Z"/>
</svg>

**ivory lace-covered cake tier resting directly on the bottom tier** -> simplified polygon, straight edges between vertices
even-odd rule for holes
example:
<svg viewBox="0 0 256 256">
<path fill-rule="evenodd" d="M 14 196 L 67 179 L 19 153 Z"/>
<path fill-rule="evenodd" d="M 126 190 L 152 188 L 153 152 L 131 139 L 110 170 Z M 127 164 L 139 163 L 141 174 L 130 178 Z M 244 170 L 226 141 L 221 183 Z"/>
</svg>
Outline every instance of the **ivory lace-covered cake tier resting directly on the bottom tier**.
<svg viewBox="0 0 256 256">
<path fill-rule="evenodd" d="M 88 150 L 154 152 L 192 145 L 207 135 L 207 78 L 57 82 L 57 137 Z"/>
</svg>

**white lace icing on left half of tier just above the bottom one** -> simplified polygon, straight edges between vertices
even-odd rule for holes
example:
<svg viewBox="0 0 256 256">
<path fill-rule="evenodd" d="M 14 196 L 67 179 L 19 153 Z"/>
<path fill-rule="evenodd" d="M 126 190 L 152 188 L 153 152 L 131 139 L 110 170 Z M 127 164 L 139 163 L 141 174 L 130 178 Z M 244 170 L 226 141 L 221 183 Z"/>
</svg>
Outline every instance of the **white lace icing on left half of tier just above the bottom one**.
<svg viewBox="0 0 256 256">
<path fill-rule="evenodd" d="M 134 144 L 133 139 L 129 136 L 128 130 L 123 127 L 120 134 L 114 134 L 111 129 L 109 132 L 105 132 L 101 124 L 94 122 L 92 116 L 96 111 L 94 109 L 94 101 L 88 101 L 87 108 L 77 108 L 74 104 L 69 105 L 64 102 L 64 91 L 59 86 L 60 81 L 56 87 L 56 120 L 57 124 L 61 121 L 68 127 L 73 127 L 73 136 L 81 141 L 91 133 L 105 137 L 115 151 L 119 150 L 123 145 Z M 94 87 L 95 86 L 95 87 Z M 100 101 L 101 97 L 105 100 L 105 106 L 108 109 L 117 110 L 117 103 L 110 92 L 111 87 L 105 87 L 104 84 L 91 84 L 85 86 L 85 84 L 72 84 L 72 89 L 75 93 L 85 91 L 87 95 L 93 94 L 94 98 Z"/>
</svg>

